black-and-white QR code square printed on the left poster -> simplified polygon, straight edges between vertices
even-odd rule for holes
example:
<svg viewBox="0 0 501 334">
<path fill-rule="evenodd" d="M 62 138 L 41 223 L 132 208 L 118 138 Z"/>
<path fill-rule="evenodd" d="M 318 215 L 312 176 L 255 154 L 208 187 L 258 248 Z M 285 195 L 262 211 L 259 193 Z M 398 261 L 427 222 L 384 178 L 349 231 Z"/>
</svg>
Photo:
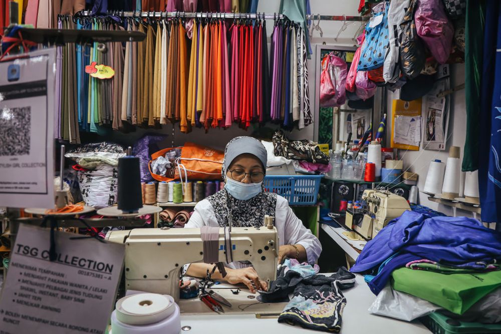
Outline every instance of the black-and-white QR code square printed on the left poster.
<svg viewBox="0 0 501 334">
<path fill-rule="evenodd" d="M 0 156 L 30 154 L 31 108 L 0 109 Z"/>
</svg>

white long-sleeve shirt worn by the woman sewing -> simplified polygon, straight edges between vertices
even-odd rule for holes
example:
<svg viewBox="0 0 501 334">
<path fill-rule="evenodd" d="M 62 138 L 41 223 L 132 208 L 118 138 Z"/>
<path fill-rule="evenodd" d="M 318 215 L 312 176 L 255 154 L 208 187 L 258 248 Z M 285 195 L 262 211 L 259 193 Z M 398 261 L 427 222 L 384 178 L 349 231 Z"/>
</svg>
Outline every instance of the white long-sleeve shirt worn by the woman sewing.
<svg viewBox="0 0 501 334">
<path fill-rule="evenodd" d="M 198 202 L 194 212 L 185 227 L 215 226 L 218 227 L 214 209 L 208 200 Z M 282 196 L 277 196 L 275 207 L 275 227 L 279 233 L 280 246 L 300 244 L 306 249 L 308 262 L 315 262 L 320 256 L 322 246 L 320 241 L 307 229 L 301 220 L 294 214 L 289 202 Z M 241 262 L 227 264 L 229 268 L 242 268 L 246 265 Z"/>
</svg>

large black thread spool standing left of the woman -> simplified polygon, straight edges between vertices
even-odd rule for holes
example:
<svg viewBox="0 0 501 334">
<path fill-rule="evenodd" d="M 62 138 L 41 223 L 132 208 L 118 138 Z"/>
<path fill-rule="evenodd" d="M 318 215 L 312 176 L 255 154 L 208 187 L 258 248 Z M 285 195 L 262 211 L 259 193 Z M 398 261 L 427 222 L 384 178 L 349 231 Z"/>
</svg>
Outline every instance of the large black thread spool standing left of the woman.
<svg viewBox="0 0 501 334">
<path fill-rule="evenodd" d="M 126 156 L 118 159 L 118 209 L 135 213 L 143 207 L 139 158 Z"/>
</svg>

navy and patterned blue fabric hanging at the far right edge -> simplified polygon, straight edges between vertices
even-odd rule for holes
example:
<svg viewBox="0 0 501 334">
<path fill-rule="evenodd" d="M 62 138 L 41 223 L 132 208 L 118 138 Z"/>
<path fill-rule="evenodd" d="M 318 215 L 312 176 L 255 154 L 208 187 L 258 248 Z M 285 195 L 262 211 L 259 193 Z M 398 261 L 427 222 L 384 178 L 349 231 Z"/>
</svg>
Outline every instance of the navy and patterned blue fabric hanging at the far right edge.
<svg viewBox="0 0 501 334">
<path fill-rule="evenodd" d="M 501 222 L 501 169 L 499 153 L 501 152 L 501 6 L 497 0 L 488 0 L 485 11 L 485 30 L 483 44 L 483 64 L 480 86 L 480 128 L 491 131 L 480 131 L 478 187 L 481 219 L 486 222 Z M 497 37 L 497 38 L 496 38 Z M 494 71 L 492 71 L 494 69 Z M 496 80 L 497 79 L 497 80 Z M 501 230 L 501 224 L 496 224 Z"/>
</svg>

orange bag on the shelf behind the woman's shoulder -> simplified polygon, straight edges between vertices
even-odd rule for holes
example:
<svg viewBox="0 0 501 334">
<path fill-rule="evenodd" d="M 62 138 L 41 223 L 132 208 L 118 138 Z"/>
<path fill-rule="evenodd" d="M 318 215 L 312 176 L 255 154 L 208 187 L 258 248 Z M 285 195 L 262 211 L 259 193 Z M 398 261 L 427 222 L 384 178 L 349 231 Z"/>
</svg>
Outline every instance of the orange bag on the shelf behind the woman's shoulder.
<svg viewBox="0 0 501 334">
<path fill-rule="evenodd" d="M 154 174 L 151 172 L 151 162 L 175 147 L 165 148 L 151 155 L 148 163 L 151 176 L 158 181 L 183 180 L 220 180 L 224 152 L 214 150 L 193 143 L 185 143 L 181 148 L 181 156 L 176 160 L 173 177 Z"/>
</svg>

